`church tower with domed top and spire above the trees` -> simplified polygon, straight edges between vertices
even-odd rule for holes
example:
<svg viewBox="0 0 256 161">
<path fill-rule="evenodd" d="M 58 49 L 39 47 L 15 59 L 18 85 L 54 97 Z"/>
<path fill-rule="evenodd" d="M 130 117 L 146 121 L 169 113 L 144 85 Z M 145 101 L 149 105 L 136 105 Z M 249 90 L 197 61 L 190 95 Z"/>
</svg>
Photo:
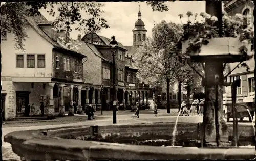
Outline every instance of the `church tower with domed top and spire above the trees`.
<svg viewBox="0 0 256 161">
<path fill-rule="evenodd" d="M 135 22 L 135 27 L 133 29 L 133 46 L 141 45 L 143 41 L 146 40 L 145 24 L 141 20 L 140 4 L 138 12 L 138 20 Z"/>
</svg>

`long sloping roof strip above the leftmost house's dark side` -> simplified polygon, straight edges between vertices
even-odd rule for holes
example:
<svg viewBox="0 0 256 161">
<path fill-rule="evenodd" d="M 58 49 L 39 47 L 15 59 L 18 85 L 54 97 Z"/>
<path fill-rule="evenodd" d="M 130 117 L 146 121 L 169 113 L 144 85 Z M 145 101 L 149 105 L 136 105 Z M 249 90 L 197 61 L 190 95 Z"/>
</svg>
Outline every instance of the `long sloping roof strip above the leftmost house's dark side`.
<svg viewBox="0 0 256 161">
<path fill-rule="evenodd" d="M 82 53 L 78 53 L 76 51 L 73 51 L 73 50 L 69 50 L 65 47 L 63 47 L 62 45 L 60 45 L 59 43 L 55 42 L 52 40 L 52 38 L 46 34 L 43 30 L 41 30 L 39 28 L 39 26 L 37 25 L 37 22 L 34 20 L 34 18 L 32 17 L 28 17 L 28 16 L 25 16 L 27 22 L 31 25 L 31 27 L 44 39 L 46 39 L 49 43 L 51 43 L 54 47 L 56 48 L 60 48 L 62 50 L 66 50 L 66 51 L 70 51 L 70 52 L 73 52 L 73 53 L 76 53 L 77 55 L 79 56 L 82 56 L 82 57 L 86 57 L 84 56 Z M 39 22 L 39 21 L 38 21 Z"/>
</svg>

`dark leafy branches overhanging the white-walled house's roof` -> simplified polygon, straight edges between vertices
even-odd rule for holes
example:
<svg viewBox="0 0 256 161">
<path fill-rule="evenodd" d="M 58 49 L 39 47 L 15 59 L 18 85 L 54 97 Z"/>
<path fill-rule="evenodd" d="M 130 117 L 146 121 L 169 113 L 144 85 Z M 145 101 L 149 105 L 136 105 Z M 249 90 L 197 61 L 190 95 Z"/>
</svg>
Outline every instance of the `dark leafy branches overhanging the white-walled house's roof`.
<svg viewBox="0 0 256 161">
<path fill-rule="evenodd" d="M 23 43 L 28 37 L 25 32 L 26 16 L 38 16 L 40 9 L 47 9 L 49 15 L 56 16 L 52 23 L 56 30 L 71 32 L 71 26 L 78 24 L 76 30 L 87 33 L 109 28 L 101 17 L 102 6 L 97 2 L 9 2 L 1 6 L 1 30 L 14 34 L 15 47 L 24 50 Z M 82 12 L 88 17 L 82 18 Z"/>
</svg>

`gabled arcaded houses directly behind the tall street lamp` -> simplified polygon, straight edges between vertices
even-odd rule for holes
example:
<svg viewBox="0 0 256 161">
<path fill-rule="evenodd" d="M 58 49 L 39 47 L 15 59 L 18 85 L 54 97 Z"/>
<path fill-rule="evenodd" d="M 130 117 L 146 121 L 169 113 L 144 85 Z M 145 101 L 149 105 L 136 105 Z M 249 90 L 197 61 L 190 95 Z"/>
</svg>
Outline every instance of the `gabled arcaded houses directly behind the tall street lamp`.
<svg viewBox="0 0 256 161">
<path fill-rule="evenodd" d="M 84 75 L 90 75 L 90 78 L 84 79 L 82 97 L 86 101 L 82 102 L 82 105 L 92 104 L 95 110 L 100 108 L 110 110 L 112 109 L 114 92 L 116 92 L 118 104 L 123 104 L 125 108 L 130 108 L 136 100 L 140 102 L 141 106 L 146 104 L 148 86 L 145 84 L 143 87 L 140 86 L 136 78 L 137 69 L 131 67 L 131 58 L 127 57 L 127 49 L 120 42 L 118 42 L 118 49 L 115 53 L 115 76 L 117 82 L 116 91 L 114 91 L 112 84 L 113 57 L 109 46 L 110 39 L 91 32 L 84 35 L 81 41 L 89 46 L 91 54 L 87 53 L 87 58 L 89 62 L 93 62 L 86 65 L 88 70 L 84 70 Z M 93 69 L 89 70 L 91 68 Z M 143 98 L 144 101 L 142 101 Z"/>
</svg>

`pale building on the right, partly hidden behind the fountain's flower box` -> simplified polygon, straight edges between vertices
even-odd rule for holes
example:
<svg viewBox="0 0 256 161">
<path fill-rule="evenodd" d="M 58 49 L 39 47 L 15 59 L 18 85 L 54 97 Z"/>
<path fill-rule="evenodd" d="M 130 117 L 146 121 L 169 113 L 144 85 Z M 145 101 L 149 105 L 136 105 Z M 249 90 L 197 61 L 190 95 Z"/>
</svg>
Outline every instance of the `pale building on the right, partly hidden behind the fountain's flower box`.
<svg viewBox="0 0 256 161">
<path fill-rule="evenodd" d="M 228 15 L 234 16 L 237 13 L 242 15 L 252 15 L 254 10 L 254 3 L 253 1 L 226 1 L 224 2 L 224 10 L 227 12 Z M 245 24 L 253 23 L 254 18 L 252 21 L 245 20 Z M 253 44 L 251 46 L 251 51 L 254 52 Z M 254 59 L 250 59 L 245 61 L 245 63 L 249 66 L 249 70 L 247 71 L 246 68 L 236 68 L 234 69 L 238 63 L 231 63 L 230 68 L 233 70 L 228 78 L 228 82 L 232 82 L 233 80 L 240 79 L 241 86 L 237 87 L 237 98 L 239 97 L 252 97 L 254 98 Z M 230 87 L 226 87 L 226 93 L 231 95 Z M 241 101 L 241 100 L 240 100 Z"/>
</svg>

